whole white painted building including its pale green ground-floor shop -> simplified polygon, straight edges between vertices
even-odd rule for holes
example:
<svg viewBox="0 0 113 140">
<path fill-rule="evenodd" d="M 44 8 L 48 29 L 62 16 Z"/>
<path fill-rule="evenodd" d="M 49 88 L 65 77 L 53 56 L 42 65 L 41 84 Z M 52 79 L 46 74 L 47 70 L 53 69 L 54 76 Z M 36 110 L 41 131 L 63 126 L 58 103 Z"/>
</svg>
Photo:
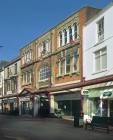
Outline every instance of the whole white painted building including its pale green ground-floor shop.
<svg viewBox="0 0 113 140">
<path fill-rule="evenodd" d="M 113 116 L 113 2 L 89 20 L 83 30 L 83 76 L 97 83 L 83 88 L 84 113 Z M 108 81 L 104 82 L 104 78 Z M 103 82 L 101 82 L 103 80 Z M 99 82 L 100 81 L 100 82 Z M 103 111 L 104 110 L 104 111 Z"/>
</svg>

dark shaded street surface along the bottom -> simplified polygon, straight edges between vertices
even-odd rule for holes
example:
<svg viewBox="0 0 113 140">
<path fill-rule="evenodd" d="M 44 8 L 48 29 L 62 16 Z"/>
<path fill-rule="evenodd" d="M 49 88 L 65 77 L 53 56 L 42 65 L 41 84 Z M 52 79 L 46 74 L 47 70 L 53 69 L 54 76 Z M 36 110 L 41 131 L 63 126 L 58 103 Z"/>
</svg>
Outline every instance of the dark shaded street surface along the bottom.
<svg viewBox="0 0 113 140">
<path fill-rule="evenodd" d="M 55 118 L 0 115 L 0 140 L 113 140 L 113 131 L 84 130 Z"/>
</svg>

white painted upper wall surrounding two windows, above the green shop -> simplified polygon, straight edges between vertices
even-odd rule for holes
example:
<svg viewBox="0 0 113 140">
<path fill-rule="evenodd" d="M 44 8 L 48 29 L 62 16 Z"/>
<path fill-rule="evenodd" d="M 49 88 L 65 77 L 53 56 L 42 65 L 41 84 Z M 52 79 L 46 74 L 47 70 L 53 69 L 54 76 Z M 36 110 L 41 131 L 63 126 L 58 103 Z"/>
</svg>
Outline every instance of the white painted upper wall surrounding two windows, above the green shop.
<svg viewBox="0 0 113 140">
<path fill-rule="evenodd" d="M 98 40 L 98 22 L 104 19 L 103 39 Z M 113 74 L 113 3 L 86 23 L 83 30 L 83 76 L 91 80 Z M 95 53 L 106 48 L 106 67 L 95 70 Z M 105 59 L 105 58 L 104 58 Z M 105 62 L 105 61 L 104 61 Z M 103 62 L 103 63 L 104 63 Z"/>
</svg>

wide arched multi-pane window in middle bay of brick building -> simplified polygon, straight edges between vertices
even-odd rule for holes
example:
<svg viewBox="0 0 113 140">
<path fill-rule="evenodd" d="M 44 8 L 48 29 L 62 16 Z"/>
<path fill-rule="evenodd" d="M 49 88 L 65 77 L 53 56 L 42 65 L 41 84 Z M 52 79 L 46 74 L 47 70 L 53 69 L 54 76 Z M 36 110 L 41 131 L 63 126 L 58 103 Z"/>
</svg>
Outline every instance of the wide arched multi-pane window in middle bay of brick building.
<svg viewBox="0 0 113 140">
<path fill-rule="evenodd" d="M 39 72 L 39 79 L 41 80 L 46 80 L 48 79 L 49 76 L 49 66 L 48 64 L 44 64 L 41 66 L 40 68 L 40 72 Z"/>
</svg>

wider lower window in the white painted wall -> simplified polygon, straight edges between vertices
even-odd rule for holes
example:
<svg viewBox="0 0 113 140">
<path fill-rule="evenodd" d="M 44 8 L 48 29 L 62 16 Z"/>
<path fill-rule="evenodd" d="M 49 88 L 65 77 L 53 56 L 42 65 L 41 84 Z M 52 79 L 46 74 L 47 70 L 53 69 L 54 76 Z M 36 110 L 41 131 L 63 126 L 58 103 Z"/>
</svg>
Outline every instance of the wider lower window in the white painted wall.
<svg viewBox="0 0 113 140">
<path fill-rule="evenodd" d="M 103 48 L 95 52 L 95 72 L 105 70 L 107 68 L 107 50 Z"/>
</svg>

